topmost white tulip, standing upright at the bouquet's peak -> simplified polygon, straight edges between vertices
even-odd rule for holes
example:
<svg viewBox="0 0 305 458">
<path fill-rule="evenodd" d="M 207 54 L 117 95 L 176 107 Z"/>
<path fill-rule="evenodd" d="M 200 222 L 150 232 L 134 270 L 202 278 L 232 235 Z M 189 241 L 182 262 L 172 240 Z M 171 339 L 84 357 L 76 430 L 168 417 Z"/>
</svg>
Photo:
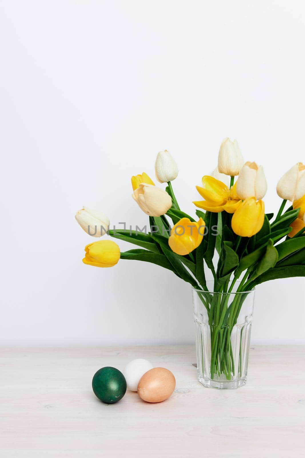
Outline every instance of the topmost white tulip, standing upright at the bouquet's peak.
<svg viewBox="0 0 305 458">
<path fill-rule="evenodd" d="M 225 175 L 238 175 L 244 159 L 239 149 L 237 140 L 231 142 L 230 138 L 225 138 L 220 145 L 218 154 L 218 171 Z"/>
</svg>

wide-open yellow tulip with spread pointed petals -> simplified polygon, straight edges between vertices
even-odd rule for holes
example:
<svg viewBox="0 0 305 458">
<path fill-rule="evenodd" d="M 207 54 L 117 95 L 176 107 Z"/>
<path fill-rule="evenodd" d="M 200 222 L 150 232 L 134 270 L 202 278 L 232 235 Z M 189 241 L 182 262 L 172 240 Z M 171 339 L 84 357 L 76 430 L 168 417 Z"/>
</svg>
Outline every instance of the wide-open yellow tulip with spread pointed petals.
<svg viewBox="0 0 305 458">
<path fill-rule="evenodd" d="M 236 194 L 236 183 L 229 189 L 222 181 L 205 175 L 202 177 L 202 187 L 196 186 L 196 189 L 205 200 L 193 203 L 209 212 L 219 213 L 225 210 L 227 213 L 234 213 L 241 205 L 241 199 Z"/>
</svg>

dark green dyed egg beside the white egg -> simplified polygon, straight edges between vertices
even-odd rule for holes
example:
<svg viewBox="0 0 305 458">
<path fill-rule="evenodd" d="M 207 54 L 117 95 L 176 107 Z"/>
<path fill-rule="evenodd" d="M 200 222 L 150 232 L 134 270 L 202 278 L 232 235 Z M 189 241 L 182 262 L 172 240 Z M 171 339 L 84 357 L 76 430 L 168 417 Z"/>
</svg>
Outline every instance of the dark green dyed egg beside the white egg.
<svg viewBox="0 0 305 458">
<path fill-rule="evenodd" d="M 113 404 L 123 398 L 127 384 L 125 377 L 115 367 L 102 367 L 93 376 L 92 389 L 97 398 Z"/>
</svg>

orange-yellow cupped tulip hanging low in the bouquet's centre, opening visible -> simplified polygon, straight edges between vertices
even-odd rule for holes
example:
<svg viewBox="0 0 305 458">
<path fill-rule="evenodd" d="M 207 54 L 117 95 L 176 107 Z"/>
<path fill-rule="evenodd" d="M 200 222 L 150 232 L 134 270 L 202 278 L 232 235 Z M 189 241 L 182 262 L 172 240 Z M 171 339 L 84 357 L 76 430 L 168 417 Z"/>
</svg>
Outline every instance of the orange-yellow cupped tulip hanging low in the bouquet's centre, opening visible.
<svg viewBox="0 0 305 458">
<path fill-rule="evenodd" d="M 177 255 L 188 255 L 195 250 L 203 239 L 205 223 L 202 218 L 198 222 L 192 222 L 189 218 L 182 218 L 171 229 L 168 245 Z"/>
</svg>

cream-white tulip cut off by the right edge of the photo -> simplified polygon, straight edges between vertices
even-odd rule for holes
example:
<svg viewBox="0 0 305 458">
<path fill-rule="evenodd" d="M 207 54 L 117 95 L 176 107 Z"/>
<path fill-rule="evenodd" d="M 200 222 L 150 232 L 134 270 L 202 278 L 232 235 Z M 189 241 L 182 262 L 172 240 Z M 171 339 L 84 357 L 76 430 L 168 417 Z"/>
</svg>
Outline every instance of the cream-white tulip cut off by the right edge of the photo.
<svg viewBox="0 0 305 458">
<path fill-rule="evenodd" d="M 305 165 L 301 162 L 295 164 L 278 181 L 276 187 L 278 196 L 293 202 L 305 194 Z"/>
</svg>

